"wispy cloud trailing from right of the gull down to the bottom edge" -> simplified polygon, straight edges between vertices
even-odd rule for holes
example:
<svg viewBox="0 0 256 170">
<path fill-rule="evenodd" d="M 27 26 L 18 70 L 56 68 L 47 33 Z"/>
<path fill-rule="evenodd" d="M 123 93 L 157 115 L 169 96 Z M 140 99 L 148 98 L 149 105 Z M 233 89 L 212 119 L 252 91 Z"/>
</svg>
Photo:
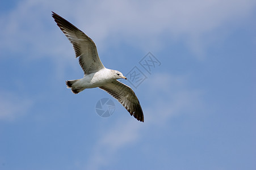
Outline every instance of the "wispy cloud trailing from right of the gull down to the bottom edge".
<svg viewBox="0 0 256 170">
<path fill-rule="evenodd" d="M 163 81 L 162 81 L 163 80 Z M 188 90 L 187 76 L 155 74 L 148 79 L 147 86 L 139 87 L 147 92 L 149 100 L 143 105 L 145 122 L 137 122 L 130 118 L 127 122 L 116 122 L 107 133 L 99 137 L 87 161 L 86 169 L 101 169 L 118 161 L 120 148 L 136 144 L 143 138 L 141 131 L 150 128 L 166 128 L 170 118 L 179 114 L 191 114 L 195 109 L 203 108 L 200 90 Z M 142 86 L 142 85 L 141 85 Z M 157 87 L 157 88 L 156 88 Z M 150 92 L 150 93 L 148 93 Z M 113 159 L 115 158 L 115 159 Z"/>
</svg>

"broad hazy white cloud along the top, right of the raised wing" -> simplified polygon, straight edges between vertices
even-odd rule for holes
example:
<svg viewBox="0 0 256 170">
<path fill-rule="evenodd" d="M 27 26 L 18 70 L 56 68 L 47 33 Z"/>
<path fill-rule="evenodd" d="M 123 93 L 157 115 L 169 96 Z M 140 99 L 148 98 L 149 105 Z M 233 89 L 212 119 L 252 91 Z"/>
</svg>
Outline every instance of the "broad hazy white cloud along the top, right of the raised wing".
<svg viewBox="0 0 256 170">
<path fill-rule="evenodd" d="M 184 41 L 195 53 L 202 54 L 205 45 L 220 36 L 220 32 L 214 32 L 216 29 L 246 18 L 255 5 L 251 0 L 112 0 L 82 2 L 78 10 L 69 15 L 76 18 L 77 25 L 85 28 L 100 46 L 106 46 L 111 37 L 116 40 L 114 46 L 122 41 L 148 52 L 165 47 L 162 39 L 169 37 L 169 40 Z M 90 9 L 82 10 L 85 6 Z"/>
</svg>

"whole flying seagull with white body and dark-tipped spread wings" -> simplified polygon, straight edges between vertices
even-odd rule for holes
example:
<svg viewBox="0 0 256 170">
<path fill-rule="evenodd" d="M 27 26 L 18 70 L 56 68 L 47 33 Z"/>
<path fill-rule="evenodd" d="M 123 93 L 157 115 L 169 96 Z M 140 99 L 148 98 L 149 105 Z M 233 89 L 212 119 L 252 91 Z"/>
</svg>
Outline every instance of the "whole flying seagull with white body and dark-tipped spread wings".
<svg viewBox="0 0 256 170">
<path fill-rule="evenodd" d="M 117 79 L 127 79 L 120 71 L 107 69 L 99 59 L 96 45 L 80 29 L 52 12 L 52 17 L 61 31 L 72 43 L 75 58 L 79 57 L 79 64 L 84 76 L 77 80 L 67 80 L 66 86 L 71 88 L 74 94 L 86 88 L 96 88 L 108 92 L 138 121 L 144 122 L 144 115 L 140 101 L 131 87 L 119 82 Z"/>
</svg>

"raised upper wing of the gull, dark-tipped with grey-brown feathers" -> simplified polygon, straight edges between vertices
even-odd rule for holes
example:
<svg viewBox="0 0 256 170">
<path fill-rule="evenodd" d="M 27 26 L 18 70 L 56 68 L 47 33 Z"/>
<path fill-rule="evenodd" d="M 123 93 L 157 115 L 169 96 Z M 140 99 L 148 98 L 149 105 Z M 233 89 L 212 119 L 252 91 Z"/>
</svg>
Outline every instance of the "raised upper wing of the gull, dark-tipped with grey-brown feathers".
<svg viewBox="0 0 256 170">
<path fill-rule="evenodd" d="M 52 12 L 52 17 L 58 27 L 60 27 L 61 31 L 72 43 L 75 51 L 75 58 L 79 57 L 79 64 L 82 67 L 83 72 L 85 74 L 90 74 L 103 69 L 104 66 L 99 59 L 96 45 L 93 40 L 60 15 Z"/>
</svg>

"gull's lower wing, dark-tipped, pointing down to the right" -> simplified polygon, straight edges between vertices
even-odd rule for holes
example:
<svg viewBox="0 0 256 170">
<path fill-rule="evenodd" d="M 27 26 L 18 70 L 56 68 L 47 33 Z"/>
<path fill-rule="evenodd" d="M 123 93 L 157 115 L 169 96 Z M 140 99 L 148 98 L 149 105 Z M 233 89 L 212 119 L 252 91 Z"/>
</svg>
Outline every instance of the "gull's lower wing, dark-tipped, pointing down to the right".
<svg viewBox="0 0 256 170">
<path fill-rule="evenodd" d="M 113 82 L 100 86 L 99 88 L 115 97 L 115 99 L 117 99 L 119 103 L 127 109 L 131 116 L 134 116 L 137 120 L 144 122 L 144 115 L 140 101 L 131 87 L 114 80 Z"/>
</svg>

